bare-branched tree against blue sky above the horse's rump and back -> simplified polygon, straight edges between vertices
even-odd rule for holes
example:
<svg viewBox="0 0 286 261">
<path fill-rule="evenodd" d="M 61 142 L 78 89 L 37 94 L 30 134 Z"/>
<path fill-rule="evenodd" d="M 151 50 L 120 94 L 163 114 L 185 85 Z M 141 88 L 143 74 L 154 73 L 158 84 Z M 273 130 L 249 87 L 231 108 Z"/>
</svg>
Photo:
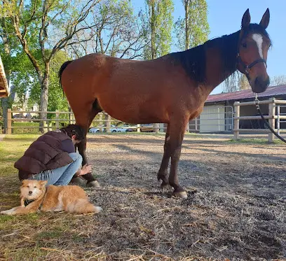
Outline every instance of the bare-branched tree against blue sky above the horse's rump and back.
<svg viewBox="0 0 286 261">
<path fill-rule="evenodd" d="M 129 0 L 102 0 L 93 10 L 95 27 L 74 35 L 74 38 L 88 39 L 90 35 L 93 38 L 71 46 L 68 52 L 76 58 L 90 52 L 128 59 L 142 57 L 147 42 L 144 26 L 137 19 L 140 15 L 134 15 Z"/>
</svg>

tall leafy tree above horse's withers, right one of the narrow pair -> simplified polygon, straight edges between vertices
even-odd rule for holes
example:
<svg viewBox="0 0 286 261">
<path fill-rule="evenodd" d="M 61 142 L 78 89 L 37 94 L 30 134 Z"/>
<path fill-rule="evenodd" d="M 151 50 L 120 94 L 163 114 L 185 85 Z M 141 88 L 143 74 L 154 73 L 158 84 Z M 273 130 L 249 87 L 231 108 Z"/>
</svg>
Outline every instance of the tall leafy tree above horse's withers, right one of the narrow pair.
<svg viewBox="0 0 286 261">
<path fill-rule="evenodd" d="M 182 0 L 184 17 L 179 17 L 175 22 L 177 46 L 179 50 L 187 50 L 205 43 L 210 34 L 207 22 L 206 0 Z"/>
</svg>

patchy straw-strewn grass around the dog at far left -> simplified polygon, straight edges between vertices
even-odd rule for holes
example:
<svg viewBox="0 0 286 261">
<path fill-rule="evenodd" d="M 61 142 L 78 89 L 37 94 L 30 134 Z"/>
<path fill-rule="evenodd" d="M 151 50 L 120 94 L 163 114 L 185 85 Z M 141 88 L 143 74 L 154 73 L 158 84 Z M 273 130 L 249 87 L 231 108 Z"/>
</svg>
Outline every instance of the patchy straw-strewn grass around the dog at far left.
<svg viewBox="0 0 286 261">
<path fill-rule="evenodd" d="M 0 210 L 19 206 L 20 181 L 13 164 L 38 136 L 13 134 L 0 142 Z M 83 241 L 82 229 L 91 218 L 65 213 L 0 215 L 0 260 L 76 260 L 70 250 Z"/>
</svg>

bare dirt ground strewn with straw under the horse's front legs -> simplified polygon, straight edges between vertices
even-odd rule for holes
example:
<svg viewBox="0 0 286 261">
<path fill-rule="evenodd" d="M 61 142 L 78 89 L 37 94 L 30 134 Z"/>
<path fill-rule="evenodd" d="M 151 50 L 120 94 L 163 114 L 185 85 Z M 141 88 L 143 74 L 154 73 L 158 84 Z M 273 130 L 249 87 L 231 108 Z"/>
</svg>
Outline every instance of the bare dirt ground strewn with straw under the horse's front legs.
<svg viewBox="0 0 286 261">
<path fill-rule="evenodd" d="M 284 143 L 185 136 L 179 181 L 188 198 L 177 199 L 156 180 L 163 141 L 89 136 L 101 188 L 88 193 L 103 211 L 87 242 L 109 260 L 286 259 Z"/>
</svg>

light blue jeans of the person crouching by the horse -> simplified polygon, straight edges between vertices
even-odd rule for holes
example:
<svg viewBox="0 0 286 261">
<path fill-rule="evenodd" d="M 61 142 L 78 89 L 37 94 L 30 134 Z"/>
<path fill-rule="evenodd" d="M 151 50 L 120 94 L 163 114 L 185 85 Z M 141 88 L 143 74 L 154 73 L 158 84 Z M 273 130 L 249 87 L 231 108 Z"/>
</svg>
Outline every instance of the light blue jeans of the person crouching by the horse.
<svg viewBox="0 0 286 261">
<path fill-rule="evenodd" d="M 79 153 L 69 153 L 74 162 L 67 164 L 64 167 L 58 169 L 48 169 L 42 171 L 39 174 L 35 174 L 32 178 L 37 181 L 48 181 L 47 185 L 67 185 L 71 178 L 76 174 L 81 168 L 81 163 L 83 162 L 83 157 Z"/>
</svg>

